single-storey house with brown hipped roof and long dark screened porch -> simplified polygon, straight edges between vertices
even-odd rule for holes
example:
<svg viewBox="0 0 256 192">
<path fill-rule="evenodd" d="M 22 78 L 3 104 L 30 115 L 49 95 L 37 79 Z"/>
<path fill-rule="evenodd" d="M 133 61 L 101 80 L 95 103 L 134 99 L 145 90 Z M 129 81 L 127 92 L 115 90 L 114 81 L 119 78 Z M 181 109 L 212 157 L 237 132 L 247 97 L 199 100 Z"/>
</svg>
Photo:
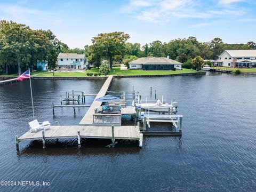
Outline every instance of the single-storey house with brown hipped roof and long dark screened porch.
<svg viewBox="0 0 256 192">
<path fill-rule="evenodd" d="M 145 57 L 129 62 L 130 69 L 172 70 L 181 69 L 182 63 L 165 57 Z"/>
</svg>

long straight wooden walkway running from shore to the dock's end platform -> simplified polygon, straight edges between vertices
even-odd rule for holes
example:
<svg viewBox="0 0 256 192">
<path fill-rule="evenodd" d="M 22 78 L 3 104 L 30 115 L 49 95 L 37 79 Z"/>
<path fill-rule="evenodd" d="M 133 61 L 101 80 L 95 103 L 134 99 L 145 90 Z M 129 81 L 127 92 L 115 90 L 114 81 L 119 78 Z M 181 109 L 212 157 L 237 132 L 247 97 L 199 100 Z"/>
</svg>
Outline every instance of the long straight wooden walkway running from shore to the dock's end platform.
<svg viewBox="0 0 256 192">
<path fill-rule="evenodd" d="M 95 99 L 103 97 L 107 93 L 112 79 L 113 79 L 113 75 L 110 75 L 107 78 L 107 80 L 105 81 L 105 83 L 103 84 L 103 86 L 101 87 L 101 89 L 100 89 L 99 93 L 97 94 L 97 96 L 95 97 Z M 94 109 L 95 108 L 100 109 L 101 103 L 102 103 L 101 101 L 95 101 L 95 99 L 94 99 L 93 103 L 91 104 L 90 108 L 87 110 L 84 117 L 82 118 L 79 125 L 93 125 Z"/>
</svg>

